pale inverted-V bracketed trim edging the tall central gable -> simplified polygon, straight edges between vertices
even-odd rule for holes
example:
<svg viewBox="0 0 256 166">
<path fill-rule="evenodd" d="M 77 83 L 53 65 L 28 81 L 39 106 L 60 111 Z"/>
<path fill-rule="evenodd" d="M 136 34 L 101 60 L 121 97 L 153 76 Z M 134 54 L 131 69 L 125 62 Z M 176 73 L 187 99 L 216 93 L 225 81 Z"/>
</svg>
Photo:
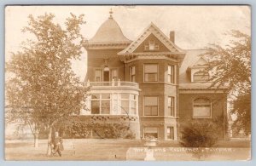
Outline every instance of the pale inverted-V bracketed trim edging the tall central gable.
<svg viewBox="0 0 256 166">
<path fill-rule="evenodd" d="M 163 43 L 167 49 L 170 50 L 173 54 L 184 54 L 183 49 L 180 49 L 177 47 L 175 43 L 172 43 L 172 41 L 166 37 L 166 35 L 160 31 L 160 29 L 154 25 L 154 23 L 151 22 L 151 24 L 143 31 L 141 35 L 137 37 L 135 41 L 133 41 L 126 49 L 119 52 L 119 55 L 121 54 L 132 54 L 137 47 L 143 43 L 143 41 L 150 35 L 154 34 L 155 37 L 157 37 L 161 43 Z"/>
</svg>

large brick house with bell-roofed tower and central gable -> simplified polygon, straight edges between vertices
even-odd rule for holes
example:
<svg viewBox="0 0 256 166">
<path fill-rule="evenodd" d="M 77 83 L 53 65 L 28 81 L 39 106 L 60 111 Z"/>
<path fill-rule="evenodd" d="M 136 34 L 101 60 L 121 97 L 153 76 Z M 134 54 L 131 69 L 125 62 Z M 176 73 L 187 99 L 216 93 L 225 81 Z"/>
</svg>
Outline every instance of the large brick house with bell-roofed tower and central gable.
<svg viewBox="0 0 256 166">
<path fill-rule="evenodd" d="M 129 124 L 137 139 L 178 140 L 193 119 L 222 117 L 224 126 L 226 94 L 208 88 L 204 50 L 180 49 L 174 31 L 151 23 L 131 41 L 110 14 L 84 47 L 91 95 L 81 117 Z"/>
</svg>

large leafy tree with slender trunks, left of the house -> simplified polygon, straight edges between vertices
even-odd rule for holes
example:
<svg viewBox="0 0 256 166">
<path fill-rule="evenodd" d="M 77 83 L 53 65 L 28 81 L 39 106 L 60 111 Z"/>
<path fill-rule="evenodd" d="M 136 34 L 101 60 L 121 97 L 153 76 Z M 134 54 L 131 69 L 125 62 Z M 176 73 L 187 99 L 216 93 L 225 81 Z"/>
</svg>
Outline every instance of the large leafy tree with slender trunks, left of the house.
<svg viewBox="0 0 256 166">
<path fill-rule="evenodd" d="M 53 14 L 28 18 L 22 31 L 29 32 L 30 39 L 6 64 L 6 119 L 28 124 L 37 146 L 40 129 L 49 130 L 50 142 L 55 124 L 84 107 L 88 89 L 75 76 L 71 60 L 82 54 L 80 26 L 85 22 L 84 15 L 71 14 L 63 29 Z"/>
</svg>

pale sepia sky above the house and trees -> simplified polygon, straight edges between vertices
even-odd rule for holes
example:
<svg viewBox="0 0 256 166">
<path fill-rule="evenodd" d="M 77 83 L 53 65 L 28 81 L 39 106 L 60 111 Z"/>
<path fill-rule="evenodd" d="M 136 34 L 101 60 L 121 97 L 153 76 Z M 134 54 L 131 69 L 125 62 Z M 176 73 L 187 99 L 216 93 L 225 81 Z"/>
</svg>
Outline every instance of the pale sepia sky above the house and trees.
<svg viewBox="0 0 256 166">
<path fill-rule="evenodd" d="M 153 22 L 166 36 L 175 31 L 175 43 L 181 49 L 203 49 L 209 43 L 225 43 L 229 37 L 224 32 L 239 30 L 251 33 L 251 10 L 248 6 L 9 6 L 5 9 L 5 60 L 11 52 L 20 50 L 20 43 L 31 37 L 22 33 L 29 14 L 34 17 L 44 13 L 55 14 L 55 22 L 63 26 L 70 15 L 84 14 L 86 24 L 82 34 L 90 39 L 113 10 L 125 37 L 135 40 Z M 73 60 L 73 70 L 84 80 L 86 50 L 80 60 Z"/>
</svg>

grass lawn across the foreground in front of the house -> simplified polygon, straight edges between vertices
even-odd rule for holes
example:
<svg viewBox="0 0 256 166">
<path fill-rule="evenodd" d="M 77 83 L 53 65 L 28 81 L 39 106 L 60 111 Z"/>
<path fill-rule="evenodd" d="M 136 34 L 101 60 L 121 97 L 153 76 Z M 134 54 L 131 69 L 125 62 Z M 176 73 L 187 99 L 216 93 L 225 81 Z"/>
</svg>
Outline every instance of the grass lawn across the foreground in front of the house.
<svg viewBox="0 0 256 166">
<path fill-rule="evenodd" d="M 6 140 L 5 158 L 7 160 L 131 160 L 132 158 L 127 158 L 127 151 L 132 152 L 133 149 L 143 149 L 144 147 L 141 140 L 63 139 L 64 151 L 62 151 L 62 157 L 47 157 L 45 155 L 47 140 L 39 140 L 38 142 L 38 148 L 35 148 L 33 147 L 33 140 Z M 75 155 L 72 155 L 72 142 L 75 146 Z M 247 159 L 250 155 L 249 141 L 220 141 L 218 146 L 234 148 L 237 151 L 239 149 L 241 154 L 234 159 Z M 179 148 L 179 145 L 175 141 L 161 141 L 157 146 L 157 148 L 166 147 Z M 155 156 L 160 160 L 191 160 L 191 155 L 186 152 L 172 153 L 155 152 Z M 135 160 L 143 160 L 145 152 L 139 152 L 135 156 L 137 156 L 137 158 L 134 158 Z M 216 157 L 218 160 L 219 156 Z"/>
</svg>

